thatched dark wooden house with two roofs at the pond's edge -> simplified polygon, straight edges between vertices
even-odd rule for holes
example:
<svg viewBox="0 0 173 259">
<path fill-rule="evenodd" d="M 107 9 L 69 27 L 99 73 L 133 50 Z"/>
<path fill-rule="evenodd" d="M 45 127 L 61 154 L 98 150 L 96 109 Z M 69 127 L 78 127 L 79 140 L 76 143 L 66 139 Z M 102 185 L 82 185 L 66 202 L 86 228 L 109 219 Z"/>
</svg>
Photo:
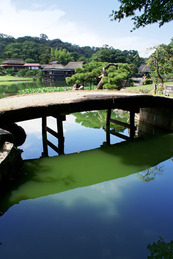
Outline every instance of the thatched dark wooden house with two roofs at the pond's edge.
<svg viewBox="0 0 173 259">
<path fill-rule="evenodd" d="M 75 68 L 82 67 L 85 62 L 69 62 L 66 66 L 61 65 L 58 61 L 50 62 L 45 66 L 43 71 L 44 81 L 65 80 L 65 77 L 71 77 L 75 74 Z"/>
</svg>

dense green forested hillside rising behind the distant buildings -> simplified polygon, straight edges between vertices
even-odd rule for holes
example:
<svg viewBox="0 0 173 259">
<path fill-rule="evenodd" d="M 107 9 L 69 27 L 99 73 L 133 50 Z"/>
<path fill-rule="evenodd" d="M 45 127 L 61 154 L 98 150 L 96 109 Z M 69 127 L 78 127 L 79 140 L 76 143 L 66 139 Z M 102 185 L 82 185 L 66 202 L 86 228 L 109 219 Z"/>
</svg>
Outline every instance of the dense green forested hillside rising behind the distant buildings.
<svg viewBox="0 0 173 259">
<path fill-rule="evenodd" d="M 70 61 L 86 62 L 87 60 L 88 62 L 122 62 L 131 64 L 133 70 L 136 70 L 143 60 L 136 50 L 121 51 L 108 45 L 80 47 L 63 42 L 61 39 L 50 40 L 45 34 L 40 34 L 40 37 L 24 36 L 15 39 L 0 33 L 0 63 L 5 58 L 22 58 L 27 63 L 40 64 L 59 61 L 63 65 Z"/>
</svg>

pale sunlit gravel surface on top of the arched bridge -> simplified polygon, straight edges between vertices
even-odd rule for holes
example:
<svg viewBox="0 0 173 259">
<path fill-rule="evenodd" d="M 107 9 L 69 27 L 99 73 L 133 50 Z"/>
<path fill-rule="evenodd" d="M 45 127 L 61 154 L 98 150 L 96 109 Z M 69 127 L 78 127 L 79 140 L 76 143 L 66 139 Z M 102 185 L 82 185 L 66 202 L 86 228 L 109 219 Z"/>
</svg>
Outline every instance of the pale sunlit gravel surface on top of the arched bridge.
<svg viewBox="0 0 173 259">
<path fill-rule="evenodd" d="M 65 104 L 86 99 L 126 97 L 143 95 L 133 92 L 121 91 L 63 91 L 53 93 L 20 94 L 0 99 L 0 111 L 18 109 L 32 106 L 48 106 L 52 104 Z"/>
</svg>

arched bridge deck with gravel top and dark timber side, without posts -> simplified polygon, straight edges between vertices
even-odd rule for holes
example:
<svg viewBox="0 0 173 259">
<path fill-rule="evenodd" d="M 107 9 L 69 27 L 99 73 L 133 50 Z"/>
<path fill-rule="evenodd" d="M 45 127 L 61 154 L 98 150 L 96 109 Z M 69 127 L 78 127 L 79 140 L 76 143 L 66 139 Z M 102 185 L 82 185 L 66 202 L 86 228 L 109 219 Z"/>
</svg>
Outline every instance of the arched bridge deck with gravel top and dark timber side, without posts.
<svg viewBox="0 0 173 259">
<path fill-rule="evenodd" d="M 0 99 L 0 122 L 19 122 L 51 116 L 103 109 L 143 107 L 173 108 L 173 99 L 121 91 L 64 91 L 22 94 Z"/>
</svg>

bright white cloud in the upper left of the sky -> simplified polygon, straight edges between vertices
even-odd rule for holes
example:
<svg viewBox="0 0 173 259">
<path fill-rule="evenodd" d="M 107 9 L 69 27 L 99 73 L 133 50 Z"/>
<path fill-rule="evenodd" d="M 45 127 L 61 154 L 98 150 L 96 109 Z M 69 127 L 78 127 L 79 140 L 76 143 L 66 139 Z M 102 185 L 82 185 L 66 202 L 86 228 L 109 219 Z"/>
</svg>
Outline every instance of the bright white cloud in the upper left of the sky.
<svg viewBox="0 0 173 259">
<path fill-rule="evenodd" d="M 34 6 L 33 4 L 32 6 Z M 36 5 L 35 5 L 36 6 Z M 38 7 L 38 5 L 37 5 Z M 7 20 L 8 12 L 8 20 Z M 10 0 L 0 0 L 0 19 L 6 21 L 1 27 L 3 33 L 14 37 L 25 35 L 39 36 L 40 33 L 49 33 L 53 24 L 54 28 L 58 26 L 59 20 L 65 12 L 53 7 L 45 10 L 17 10 Z M 46 17 L 46 19 L 45 19 Z"/>
</svg>

